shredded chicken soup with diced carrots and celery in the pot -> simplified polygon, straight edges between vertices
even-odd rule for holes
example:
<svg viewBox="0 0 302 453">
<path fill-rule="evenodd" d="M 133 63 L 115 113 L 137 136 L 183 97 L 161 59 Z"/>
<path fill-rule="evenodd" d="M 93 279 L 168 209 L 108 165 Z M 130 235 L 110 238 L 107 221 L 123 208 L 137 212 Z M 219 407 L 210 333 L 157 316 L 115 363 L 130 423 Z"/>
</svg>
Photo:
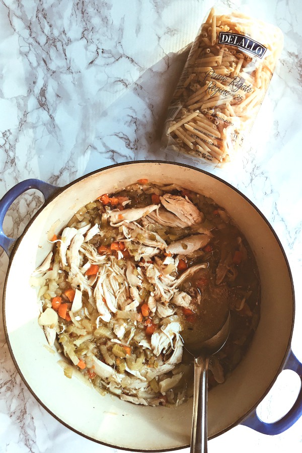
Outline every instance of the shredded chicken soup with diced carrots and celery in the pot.
<svg viewBox="0 0 302 453">
<path fill-rule="evenodd" d="M 210 360 L 209 389 L 241 361 L 259 322 L 260 279 L 246 239 L 210 198 L 141 179 L 88 203 L 49 239 L 31 284 L 68 378 L 81 372 L 101 394 L 135 404 L 180 405 L 194 374 L 182 335 L 211 336 L 203 326 L 221 307 L 231 333 Z"/>
</svg>

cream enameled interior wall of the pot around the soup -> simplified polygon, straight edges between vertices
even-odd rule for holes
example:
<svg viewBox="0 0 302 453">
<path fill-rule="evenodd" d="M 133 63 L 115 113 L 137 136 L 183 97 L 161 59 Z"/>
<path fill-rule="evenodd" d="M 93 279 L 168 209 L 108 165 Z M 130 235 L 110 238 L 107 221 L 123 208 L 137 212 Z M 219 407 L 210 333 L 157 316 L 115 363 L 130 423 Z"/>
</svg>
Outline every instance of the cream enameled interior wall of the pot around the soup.
<svg viewBox="0 0 302 453">
<path fill-rule="evenodd" d="M 116 166 L 84 177 L 50 201 L 13 256 L 5 293 L 6 326 L 23 379 L 63 423 L 92 439 L 129 450 L 176 449 L 190 443 L 192 400 L 176 409 L 136 406 L 111 395 L 102 397 L 77 378 L 67 379 L 57 364 L 60 357 L 47 348 L 37 323 L 36 291 L 29 286 L 31 272 L 50 251 L 47 232 L 54 222 L 60 220 L 57 231 L 61 230 L 81 206 L 139 178 L 177 183 L 213 198 L 229 211 L 249 241 L 261 276 L 261 320 L 245 359 L 223 385 L 209 393 L 209 436 L 236 424 L 255 406 L 275 379 L 290 339 L 290 276 L 279 244 L 257 210 L 230 186 L 192 168 L 156 162 Z M 22 294 L 18 298 L 16 285 Z"/>
</svg>

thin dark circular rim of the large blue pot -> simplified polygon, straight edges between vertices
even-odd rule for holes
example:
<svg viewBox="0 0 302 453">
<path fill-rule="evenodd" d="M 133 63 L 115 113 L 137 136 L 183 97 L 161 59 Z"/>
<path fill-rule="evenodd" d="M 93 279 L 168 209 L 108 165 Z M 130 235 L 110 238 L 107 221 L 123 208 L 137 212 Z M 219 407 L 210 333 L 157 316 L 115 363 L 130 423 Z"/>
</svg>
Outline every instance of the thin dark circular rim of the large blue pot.
<svg viewBox="0 0 302 453">
<path fill-rule="evenodd" d="M 118 446 L 118 445 L 113 445 L 113 444 L 109 444 L 109 443 L 106 443 L 106 442 L 102 442 L 101 440 L 97 440 L 93 437 L 90 437 L 84 433 L 82 433 L 81 431 L 73 428 L 72 426 L 68 425 L 68 423 L 64 422 L 63 420 L 61 420 L 58 416 L 56 416 L 44 403 L 42 403 L 42 401 L 39 399 L 39 397 L 35 394 L 35 392 L 33 391 L 33 389 L 30 387 L 30 385 L 27 383 L 26 379 L 24 378 L 23 376 L 23 373 L 21 371 L 21 369 L 19 368 L 19 365 L 18 365 L 18 362 L 14 356 L 14 352 L 13 352 L 13 349 L 11 347 L 11 343 L 10 343 L 10 339 L 9 339 L 9 334 L 8 334 L 8 331 L 7 331 L 7 325 L 6 325 L 6 310 L 5 310 L 5 303 L 6 303 L 6 287 L 7 287 L 7 281 L 8 281 L 8 276 L 9 276 L 9 273 L 10 273 L 10 269 L 11 269 L 11 266 L 12 266 L 12 263 L 13 263 L 13 260 L 14 260 L 14 256 L 18 250 L 18 247 L 23 239 L 23 237 L 25 236 L 25 234 L 27 233 L 27 231 L 29 230 L 31 224 L 33 223 L 33 221 L 36 219 L 36 217 L 38 217 L 38 215 L 40 214 L 40 212 L 44 209 L 44 207 L 46 207 L 51 201 L 53 201 L 59 194 L 61 194 L 65 189 L 68 189 L 69 187 L 71 187 L 72 185 L 74 184 L 77 184 L 78 182 L 82 181 L 83 179 L 85 178 L 88 178 L 92 175 L 95 175 L 96 173 L 101 173 L 105 170 L 109 170 L 111 168 L 115 168 L 115 167 L 123 167 L 125 165 L 133 165 L 133 164 L 144 164 L 144 163 L 150 163 L 150 164 L 168 164 L 168 165 L 175 165 L 175 166 L 178 166 L 178 167 L 186 167 L 190 170 L 195 170 L 197 172 L 200 172 L 200 173 L 203 173 L 207 176 L 210 176 L 214 179 L 216 179 L 217 181 L 225 184 L 226 186 L 230 187 L 231 189 L 233 189 L 235 192 L 237 192 L 239 195 L 241 195 L 256 211 L 257 213 L 262 217 L 262 219 L 265 221 L 265 223 L 267 224 L 267 226 L 269 227 L 269 229 L 271 230 L 274 238 L 276 239 L 279 247 L 280 247 L 280 250 L 282 252 L 282 255 L 283 255 L 283 258 L 284 258 L 284 261 L 285 261 L 285 264 L 286 264 L 286 267 L 287 267 L 287 272 L 288 272 L 288 275 L 289 275 L 289 279 L 290 279 L 290 285 L 291 285 L 291 294 L 292 294 L 292 306 L 293 306 L 293 311 L 292 311 L 292 320 L 291 320 L 291 329 L 290 329 L 290 335 L 289 335 L 289 338 L 288 338 L 288 343 L 287 343 L 287 346 L 286 346 L 286 350 L 285 350 L 285 354 L 283 356 L 283 359 L 281 360 L 281 363 L 280 363 L 280 366 L 278 367 L 278 370 L 277 372 L 275 373 L 275 376 L 273 378 L 273 380 L 270 382 L 270 384 L 267 386 L 267 389 L 266 391 L 263 393 L 263 395 L 257 400 L 257 402 L 253 405 L 252 408 L 250 408 L 242 417 L 240 417 L 236 422 L 232 423 L 231 425 L 229 425 L 228 427 L 226 427 L 225 429 L 219 431 L 218 433 L 216 433 L 215 435 L 213 436 L 210 436 L 209 437 L 209 440 L 210 439 L 213 439 L 227 431 L 229 431 L 230 429 L 234 428 L 235 426 L 238 426 L 242 421 L 244 421 L 253 411 L 256 410 L 256 408 L 258 407 L 258 405 L 261 403 L 261 401 L 266 397 L 266 395 L 269 393 L 269 391 L 271 390 L 272 386 L 274 385 L 274 383 L 276 382 L 277 380 L 277 377 L 278 375 L 280 374 L 280 372 L 282 371 L 283 369 L 283 366 L 284 366 L 284 363 L 285 363 L 285 360 L 291 350 L 291 339 L 292 339 L 292 333 L 293 333 L 293 326 L 294 326 L 294 317 L 295 317 L 295 295 L 294 295 L 294 285 L 293 285 L 293 279 L 292 279 L 292 274 L 291 274 L 291 270 L 290 270 L 290 266 L 289 266 L 289 263 L 288 263 L 288 260 L 287 260 L 287 257 L 286 257 L 286 254 L 285 254 L 285 251 L 284 251 L 284 248 L 275 232 L 275 230 L 273 229 L 272 225 L 270 224 L 270 222 L 267 220 L 267 218 L 264 216 L 264 214 L 260 211 L 260 209 L 245 195 L 243 194 L 239 189 L 237 189 L 236 187 L 234 187 L 232 184 L 230 184 L 229 182 L 223 180 L 222 178 L 219 178 L 219 176 L 216 176 L 216 175 L 213 175 L 212 173 L 209 173 L 207 172 L 206 170 L 202 170 L 200 168 L 196 168 L 196 167 L 192 167 L 191 165 L 188 165 L 188 164 L 183 164 L 183 163 L 179 163 L 179 162 L 171 162 L 171 161 L 161 161 L 161 160 L 140 160 L 140 161 L 129 161 L 129 162 L 121 162 L 121 163 L 118 163 L 118 164 L 112 164 L 112 165 L 109 165 L 107 167 L 103 167 L 101 169 L 98 169 L 98 170 L 94 170 L 86 175 L 83 175 L 77 179 L 75 179 L 74 181 L 71 181 L 70 183 L 66 184 L 65 186 L 62 186 L 62 187 L 58 187 L 58 190 L 52 194 L 48 199 L 47 201 L 44 201 L 44 203 L 42 204 L 42 206 L 37 210 L 37 212 L 35 212 L 35 214 L 33 215 L 33 217 L 31 218 L 31 220 L 29 221 L 29 223 L 26 225 L 23 233 L 21 234 L 21 236 L 17 239 L 16 243 L 14 244 L 14 247 L 12 249 L 12 253 L 9 257 L 9 265 L 8 265 L 8 269 L 7 269 L 7 273 L 6 273 L 6 278 L 5 278 L 5 283 L 4 283 L 4 291 L 3 291 L 3 324 L 4 324 L 4 332 L 5 332 L 5 337 L 6 337 L 6 341 L 7 341 L 7 344 L 8 344 L 8 348 L 9 348 L 9 351 L 10 351 L 10 354 L 11 354 L 11 357 L 13 359 L 13 362 L 17 368 L 17 371 L 18 373 L 20 374 L 21 376 L 21 379 L 23 381 L 23 383 L 25 384 L 25 386 L 27 387 L 27 389 L 30 391 L 30 393 L 33 395 L 33 397 L 35 398 L 36 401 L 38 401 L 38 403 L 52 416 L 54 417 L 59 423 L 61 423 L 62 425 L 64 425 L 66 428 L 70 429 L 71 431 L 81 435 L 82 437 L 85 437 L 87 438 L 88 440 L 92 440 L 96 443 L 99 443 L 101 445 L 105 445 L 105 446 L 109 446 L 111 448 L 117 448 L 119 450 L 125 450 L 125 451 L 129 451 L 128 448 L 126 447 L 122 447 L 122 446 Z M 143 452 L 143 453 L 161 453 L 163 451 L 175 451 L 175 450 L 181 450 L 183 448 L 188 448 L 190 447 L 190 445 L 184 445 L 184 446 L 180 446 L 180 447 L 173 447 L 173 448 L 164 448 L 164 449 L 131 449 L 131 451 L 137 451 L 137 452 Z"/>
</svg>

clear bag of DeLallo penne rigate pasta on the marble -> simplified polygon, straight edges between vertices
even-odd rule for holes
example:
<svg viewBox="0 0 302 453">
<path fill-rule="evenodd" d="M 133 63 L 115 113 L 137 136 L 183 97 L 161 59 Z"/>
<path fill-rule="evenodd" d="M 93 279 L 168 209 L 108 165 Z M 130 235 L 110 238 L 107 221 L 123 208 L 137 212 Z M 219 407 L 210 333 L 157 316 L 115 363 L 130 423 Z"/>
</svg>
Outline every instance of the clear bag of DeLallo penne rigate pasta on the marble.
<svg viewBox="0 0 302 453">
<path fill-rule="evenodd" d="M 166 150 L 221 167 L 242 146 L 283 46 L 279 28 L 212 8 L 168 109 Z"/>
</svg>

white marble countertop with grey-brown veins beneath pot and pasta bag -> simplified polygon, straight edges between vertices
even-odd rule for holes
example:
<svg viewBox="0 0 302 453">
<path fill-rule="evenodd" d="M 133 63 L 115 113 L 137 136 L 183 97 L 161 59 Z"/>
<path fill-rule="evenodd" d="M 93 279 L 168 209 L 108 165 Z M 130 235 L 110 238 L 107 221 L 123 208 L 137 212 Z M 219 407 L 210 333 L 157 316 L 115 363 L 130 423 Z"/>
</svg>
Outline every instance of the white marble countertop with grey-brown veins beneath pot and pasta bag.
<svg viewBox="0 0 302 453">
<path fill-rule="evenodd" d="M 160 136 L 166 110 L 186 46 L 212 3 L 1 0 L 0 197 L 27 178 L 63 186 L 113 163 L 165 160 Z M 246 152 L 228 168 L 206 170 L 249 197 L 279 236 L 296 295 L 292 349 L 302 361 L 302 9 L 299 0 L 216 4 L 234 6 L 284 33 Z M 7 234 L 20 236 L 40 204 L 32 192 L 14 203 L 5 219 Z M 2 249 L 0 263 L 2 291 L 8 267 Z M 3 328 L 0 363 L 0 452 L 113 451 L 68 430 L 38 404 L 17 373 Z M 293 403 L 296 378 L 281 373 L 259 408 L 264 421 L 276 420 Z M 211 440 L 209 451 L 297 453 L 301 433 L 302 419 L 276 436 L 237 426 Z"/>
</svg>

